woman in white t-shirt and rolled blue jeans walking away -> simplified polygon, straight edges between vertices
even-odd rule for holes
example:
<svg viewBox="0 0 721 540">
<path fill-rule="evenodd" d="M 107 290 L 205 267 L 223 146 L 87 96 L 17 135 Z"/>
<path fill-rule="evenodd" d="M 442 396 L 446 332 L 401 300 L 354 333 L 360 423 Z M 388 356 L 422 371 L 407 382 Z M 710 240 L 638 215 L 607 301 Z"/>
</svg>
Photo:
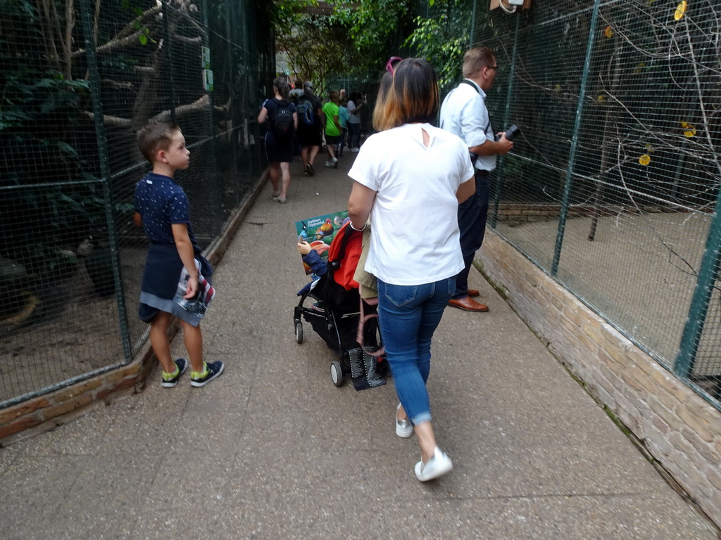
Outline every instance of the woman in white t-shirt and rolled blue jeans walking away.
<svg viewBox="0 0 721 540">
<path fill-rule="evenodd" d="M 397 66 L 382 107 L 379 133 L 363 144 L 348 175 L 350 226 L 372 217 L 366 271 L 378 278 L 381 337 L 400 403 L 396 433 L 415 431 L 421 482 L 453 468 L 435 444 L 425 382 L 430 341 L 463 268 L 458 204 L 475 190 L 468 148 L 428 122 L 438 111 L 438 84 L 430 64 L 409 58 Z"/>
</svg>

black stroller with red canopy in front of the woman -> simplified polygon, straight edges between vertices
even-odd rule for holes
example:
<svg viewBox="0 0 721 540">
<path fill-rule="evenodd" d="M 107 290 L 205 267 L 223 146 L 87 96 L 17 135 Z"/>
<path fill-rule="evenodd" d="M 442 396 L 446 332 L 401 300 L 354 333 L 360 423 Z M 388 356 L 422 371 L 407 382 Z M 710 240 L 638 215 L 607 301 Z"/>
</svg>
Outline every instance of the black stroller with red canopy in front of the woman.
<svg viewBox="0 0 721 540">
<path fill-rule="evenodd" d="M 327 263 L 318 261 L 317 274 L 322 275 L 298 292 L 300 301 L 293 311 L 296 342 L 303 343 L 304 318 L 337 355 L 330 364 L 333 384 L 341 386 L 350 374 L 355 390 L 386 384 L 388 372 L 378 327 L 378 300 L 362 299 L 353 280 L 362 236 L 348 223 L 338 230 Z"/>
</svg>

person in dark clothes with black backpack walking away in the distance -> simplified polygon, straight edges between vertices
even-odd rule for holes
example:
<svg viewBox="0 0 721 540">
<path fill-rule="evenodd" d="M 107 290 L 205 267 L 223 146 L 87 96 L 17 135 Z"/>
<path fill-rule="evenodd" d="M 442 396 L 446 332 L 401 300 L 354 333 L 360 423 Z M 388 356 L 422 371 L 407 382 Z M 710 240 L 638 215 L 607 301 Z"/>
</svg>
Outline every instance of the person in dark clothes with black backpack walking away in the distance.
<svg viewBox="0 0 721 540">
<path fill-rule="evenodd" d="M 298 128 L 296 106 L 288 101 L 291 89 L 286 77 L 273 80 L 272 98 L 260 107 L 258 123 L 266 120 L 265 153 L 268 159 L 270 183 L 273 184 L 273 200 L 286 202 L 291 185 L 291 161 L 293 161 L 293 133 Z"/>
</svg>

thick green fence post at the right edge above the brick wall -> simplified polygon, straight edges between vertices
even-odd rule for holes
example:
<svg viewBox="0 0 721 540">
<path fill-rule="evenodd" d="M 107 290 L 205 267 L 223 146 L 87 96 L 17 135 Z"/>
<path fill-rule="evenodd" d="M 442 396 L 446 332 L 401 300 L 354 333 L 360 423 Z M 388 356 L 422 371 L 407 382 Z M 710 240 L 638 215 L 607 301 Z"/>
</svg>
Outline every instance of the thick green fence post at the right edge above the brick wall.
<svg viewBox="0 0 721 540">
<path fill-rule="evenodd" d="M 681 345 L 678 356 L 673 363 L 673 371 L 679 377 L 688 378 L 694 371 L 696 354 L 699 351 L 699 341 L 704 331 L 704 324 L 709 312 L 711 294 L 717 278 L 719 262 L 721 261 L 721 189 L 716 197 L 714 218 L 706 238 L 704 256 L 699 266 L 699 275 L 696 277 L 696 289 L 691 297 L 689 317 L 686 318 L 684 333 L 681 334 Z"/>
</svg>

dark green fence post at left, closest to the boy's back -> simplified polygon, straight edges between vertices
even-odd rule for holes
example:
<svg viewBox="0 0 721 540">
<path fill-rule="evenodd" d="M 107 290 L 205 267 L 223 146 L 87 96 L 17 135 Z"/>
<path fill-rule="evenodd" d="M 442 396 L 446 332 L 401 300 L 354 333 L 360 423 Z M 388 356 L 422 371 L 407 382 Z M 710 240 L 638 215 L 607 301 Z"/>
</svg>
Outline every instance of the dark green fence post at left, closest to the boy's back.
<svg viewBox="0 0 721 540">
<path fill-rule="evenodd" d="M 95 53 L 95 40 L 93 35 L 93 21 L 90 14 L 89 0 L 80 0 L 82 12 L 83 37 L 88 63 L 88 76 L 90 95 L 92 97 L 93 120 L 95 123 L 95 139 L 100 162 L 100 180 L 102 182 L 103 198 L 105 199 L 105 220 L 107 222 L 108 240 L 110 242 L 110 257 L 112 260 L 112 276 L 115 279 L 115 299 L 118 302 L 118 324 L 120 325 L 120 340 L 123 342 L 123 355 L 126 361 L 133 359 L 131 351 L 130 334 L 128 332 L 128 313 L 125 310 L 125 292 L 123 279 L 120 274 L 120 251 L 118 250 L 118 234 L 115 230 L 115 215 L 112 204 L 112 189 L 110 189 L 110 160 L 107 153 L 107 138 L 105 137 L 105 122 L 102 117 L 102 104 L 100 103 L 99 74 L 97 71 L 97 55 Z"/>
</svg>

